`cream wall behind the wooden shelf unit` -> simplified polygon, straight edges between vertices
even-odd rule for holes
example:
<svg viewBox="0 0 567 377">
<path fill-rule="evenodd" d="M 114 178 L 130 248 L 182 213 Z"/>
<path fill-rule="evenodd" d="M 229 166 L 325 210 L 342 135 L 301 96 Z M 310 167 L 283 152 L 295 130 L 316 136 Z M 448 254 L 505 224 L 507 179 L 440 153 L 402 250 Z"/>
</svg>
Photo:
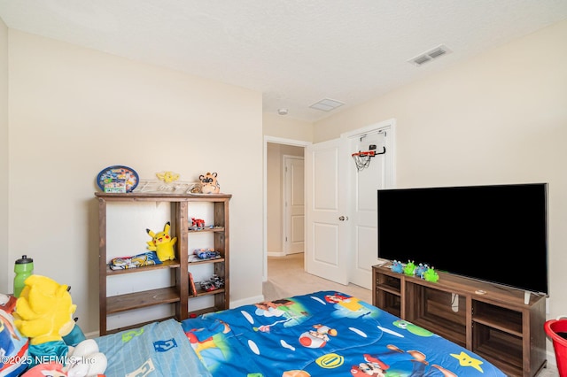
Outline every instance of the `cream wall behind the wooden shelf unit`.
<svg viewBox="0 0 567 377">
<path fill-rule="evenodd" d="M 195 181 L 217 172 L 221 190 L 233 195 L 231 303 L 261 298 L 262 187 L 243 184 L 262 176 L 259 92 L 12 29 L 8 61 L 11 227 L 3 276 L 13 276 L 21 254 L 33 257 L 35 273 L 72 286 L 83 331 L 96 330 L 97 173 L 128 165 L 142 178 L 170 170 Z M 0 291 L 9 289 L 4 280 Z"/>
</svg>

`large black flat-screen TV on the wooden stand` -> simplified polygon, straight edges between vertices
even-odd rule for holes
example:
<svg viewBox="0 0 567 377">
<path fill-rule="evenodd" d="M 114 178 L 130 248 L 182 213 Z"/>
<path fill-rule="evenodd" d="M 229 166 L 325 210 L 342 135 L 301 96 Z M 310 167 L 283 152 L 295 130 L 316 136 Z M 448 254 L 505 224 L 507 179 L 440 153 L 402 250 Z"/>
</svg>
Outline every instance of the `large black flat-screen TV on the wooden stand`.
<svg viewBox="0 0 567 377">
<path fill-rule="evenodd" d="M 378 258 L 548 294 L 548 184 L 379 189 Z"/>
</svg>

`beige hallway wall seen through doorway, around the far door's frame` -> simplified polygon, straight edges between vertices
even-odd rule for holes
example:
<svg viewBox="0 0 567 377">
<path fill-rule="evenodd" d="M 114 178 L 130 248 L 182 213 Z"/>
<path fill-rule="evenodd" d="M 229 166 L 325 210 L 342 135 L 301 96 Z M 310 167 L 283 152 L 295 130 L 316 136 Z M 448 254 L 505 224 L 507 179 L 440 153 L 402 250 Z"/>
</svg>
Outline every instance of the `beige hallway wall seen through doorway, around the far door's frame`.
<svg viewBox="0 0 567 377">
<path fill-rule="evenodd" d="M 268 142 L 267 247 L 270 254 L 283 253 L 283 156 L 303 157 L 304 148 Z"/>
</svg>

